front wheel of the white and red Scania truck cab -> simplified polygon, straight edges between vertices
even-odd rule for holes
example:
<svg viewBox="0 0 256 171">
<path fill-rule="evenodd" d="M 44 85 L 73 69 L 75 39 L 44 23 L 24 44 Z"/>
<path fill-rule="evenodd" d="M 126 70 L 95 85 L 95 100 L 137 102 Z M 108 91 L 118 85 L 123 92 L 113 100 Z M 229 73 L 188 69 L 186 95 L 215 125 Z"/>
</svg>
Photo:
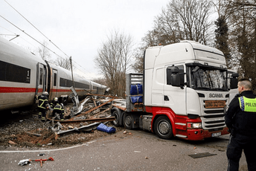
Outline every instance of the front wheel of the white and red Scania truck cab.
<svg viewBox="0 0 256 171">
<path fill-rule="evenodd" d="M 154 124 L 156 135 L 162 139 L 173 138 L 173 129 L 170 120 L 167 116 L 160 116 Z"/>
</svg>

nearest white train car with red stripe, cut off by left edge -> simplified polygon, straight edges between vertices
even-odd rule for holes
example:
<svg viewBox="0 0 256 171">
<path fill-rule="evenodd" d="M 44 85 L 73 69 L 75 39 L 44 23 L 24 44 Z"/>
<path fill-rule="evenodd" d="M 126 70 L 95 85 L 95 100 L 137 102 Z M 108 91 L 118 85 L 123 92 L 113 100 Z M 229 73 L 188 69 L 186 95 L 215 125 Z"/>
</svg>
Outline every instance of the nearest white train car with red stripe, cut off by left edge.
<svg viewBox="0 0 256 171">
<path fill-rule="evenodd" d="M 0 110 L 33 104 L 45 76 L 44 60 L 0 37 Z"/>
</svg>

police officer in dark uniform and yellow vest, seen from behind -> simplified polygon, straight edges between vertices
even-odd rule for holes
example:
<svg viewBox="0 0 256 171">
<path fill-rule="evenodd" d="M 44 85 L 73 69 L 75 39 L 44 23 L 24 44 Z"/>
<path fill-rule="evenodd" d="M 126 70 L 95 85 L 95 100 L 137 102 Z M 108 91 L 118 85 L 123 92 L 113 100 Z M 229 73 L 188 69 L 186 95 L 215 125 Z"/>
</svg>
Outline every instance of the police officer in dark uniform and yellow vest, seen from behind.
<svg viewBox="0 0 256 171">
<path fill-rule="evenodd" d="M 248 79 L 238 81 L 238 91 L 228 106 L 225 124 L 231 132 L 227 148 L 228 170 L 239 169 L 242 151 L 248 170 L 256 170 L 256 96 Z"/>
</svg>

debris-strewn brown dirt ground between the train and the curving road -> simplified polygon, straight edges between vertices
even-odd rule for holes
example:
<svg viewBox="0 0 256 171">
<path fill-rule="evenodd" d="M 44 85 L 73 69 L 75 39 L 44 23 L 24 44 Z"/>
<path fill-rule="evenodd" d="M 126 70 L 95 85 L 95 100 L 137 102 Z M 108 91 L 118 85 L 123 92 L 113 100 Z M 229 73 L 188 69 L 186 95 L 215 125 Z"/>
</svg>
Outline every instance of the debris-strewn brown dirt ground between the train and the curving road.
<svg viewBox="0 0 256 171">
<path fill-rule="evenodd" d="M 110 113 L 106 112 L 105 114 Z M 61 123 L 61 126 L 63 126 L 61 130 L 74 129 L 75 127 L 80 128 L 80 126 L 86 126 L 90 123 L 92 122 Z M 11 149 L 13 146 L 26 149 L 59 148 L 86 143 L 95 138 L 109 135 L 107 132 L 93 129 L 89 132 L 77 132 L 57 137 L 56 132 L 51 129 L 51 126 L 53 126 L 52 121 L 42 122 L 38 119 L 36 110 L 20 114 L 5 114 L 0 122 L 0 150 Z M 124 131 L 124 128 L 113 126 L 112 122 L 106 123 L 106 126 L 114 127 L 116 132 Z"/>
</svg>

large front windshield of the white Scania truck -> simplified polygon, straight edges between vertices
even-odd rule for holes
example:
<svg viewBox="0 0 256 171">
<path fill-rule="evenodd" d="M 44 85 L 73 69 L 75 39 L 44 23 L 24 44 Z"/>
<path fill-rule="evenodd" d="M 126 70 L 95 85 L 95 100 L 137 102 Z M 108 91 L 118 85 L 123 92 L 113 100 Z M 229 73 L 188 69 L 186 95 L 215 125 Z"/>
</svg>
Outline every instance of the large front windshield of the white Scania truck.
<svg viewBox="0 0 256 171">
<path fill-rule="evenodd" d="M 217 68 L 191 67 L 191 88 L 226 91 L 226 71 Z"/>
</svg>

